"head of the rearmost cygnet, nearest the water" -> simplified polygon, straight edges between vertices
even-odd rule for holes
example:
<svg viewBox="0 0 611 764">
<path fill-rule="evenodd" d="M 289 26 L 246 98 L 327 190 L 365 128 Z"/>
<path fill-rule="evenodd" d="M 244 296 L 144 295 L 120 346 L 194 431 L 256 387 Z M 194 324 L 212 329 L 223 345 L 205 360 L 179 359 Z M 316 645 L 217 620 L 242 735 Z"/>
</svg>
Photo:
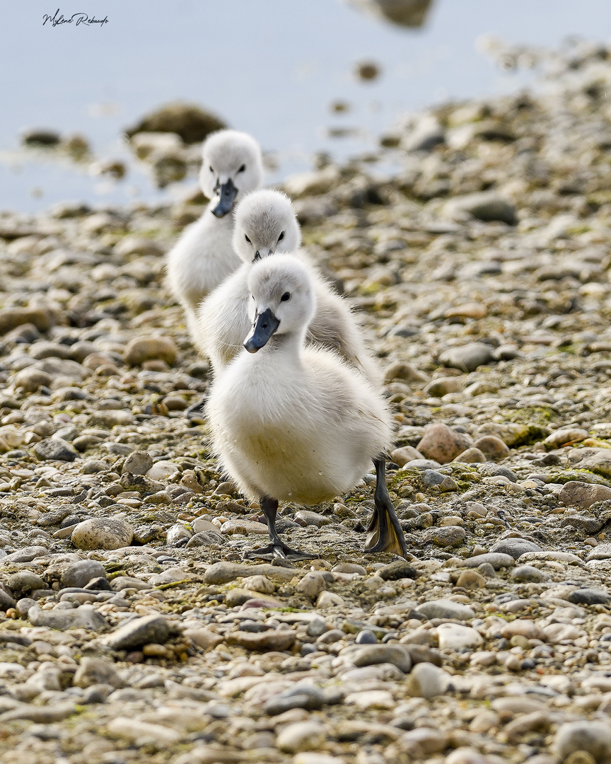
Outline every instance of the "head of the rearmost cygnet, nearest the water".
<svg viewBox="0 0 611 764">
<path fill-rule="evenodd" d="M 219 130 L 205 139 L 199 183 L 217 204 L 212 214 L 222 218 L 249 191 L 263 182 L 263 160 L 257 141 L 237 130 Z"/>
</svg>

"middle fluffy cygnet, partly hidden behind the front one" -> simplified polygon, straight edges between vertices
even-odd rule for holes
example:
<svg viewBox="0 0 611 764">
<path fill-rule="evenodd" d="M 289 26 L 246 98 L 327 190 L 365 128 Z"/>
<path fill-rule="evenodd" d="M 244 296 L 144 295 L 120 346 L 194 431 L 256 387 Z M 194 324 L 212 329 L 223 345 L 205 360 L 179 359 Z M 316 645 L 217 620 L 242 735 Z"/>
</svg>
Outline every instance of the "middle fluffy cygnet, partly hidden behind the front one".
<svg viewBox="0 0 611 764">
<path fill-rule="evenodd" d="M 307 341 L 335 350 L 364 373 L 373 384 L 380 373 L 364 344 L 348 303 L 318 273 L 305 253 L 299 253 L 301 231 L 290 199 L 280 191 L 249 194 L 235 212 L 234 250 L 244 264 L 213 292 L 199 308 L 196 345 L 210 358 L 218 374 L 241 350 L 251 328 L 248 276 L 257 261 L 277 253 L 293 252 L 309 267 L 316 296 L 315 315 Z"/>
</svg>

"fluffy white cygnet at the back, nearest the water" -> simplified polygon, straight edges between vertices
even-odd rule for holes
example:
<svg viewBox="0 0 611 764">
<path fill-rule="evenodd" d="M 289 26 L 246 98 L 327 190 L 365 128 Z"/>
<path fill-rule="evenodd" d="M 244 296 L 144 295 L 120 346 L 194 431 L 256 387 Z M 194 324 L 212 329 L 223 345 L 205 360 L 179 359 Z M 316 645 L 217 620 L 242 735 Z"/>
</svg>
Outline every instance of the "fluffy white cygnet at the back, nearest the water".
<svg viewBox="0 0 611 764">
<path fill-rule="evenodd" d="M 247 133 L 212 133 L 202 151 L 199 182 L 212 201 L 202 217 L 183 231 L 166 263 L 167 284 L 183 306 L 192 335 L 199 303 L 241 264 L 231 244 L 234 209 L 263 180 L 260 146 Z"/>
</svg>

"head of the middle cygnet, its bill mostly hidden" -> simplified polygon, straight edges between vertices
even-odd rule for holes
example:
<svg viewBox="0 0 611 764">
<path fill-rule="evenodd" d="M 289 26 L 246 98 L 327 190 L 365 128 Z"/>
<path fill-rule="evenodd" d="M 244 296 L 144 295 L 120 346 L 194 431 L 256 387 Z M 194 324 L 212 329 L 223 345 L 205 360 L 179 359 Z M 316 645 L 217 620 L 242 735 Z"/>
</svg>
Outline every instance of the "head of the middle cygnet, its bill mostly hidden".
<svg viewBox="0 0 611 764">
<path fill-rule="evenodd" d="M 271 189 L 245 196 L 235 210 L 233 245 L 245 263 L 298 250 L 301 231 L 289 197 Z"/>
</svg>

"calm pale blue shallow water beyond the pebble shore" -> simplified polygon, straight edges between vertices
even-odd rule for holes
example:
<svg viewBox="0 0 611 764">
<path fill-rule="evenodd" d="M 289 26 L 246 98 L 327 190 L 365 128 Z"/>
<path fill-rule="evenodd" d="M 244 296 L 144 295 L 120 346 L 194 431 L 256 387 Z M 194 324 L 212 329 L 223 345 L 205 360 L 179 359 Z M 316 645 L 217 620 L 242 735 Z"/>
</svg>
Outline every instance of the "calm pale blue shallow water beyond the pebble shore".
<svg viewBox="0 0 611 764">
<path fill-rule="evenodd" d="M 55 4 L 60 0 L 53 0 Z M 358 2 L 358 0 L 354 0 Z M 363 0 L 360 0 L 363 2 Z M 95 6 L 98 6 L 97 8 Z M 18 151 L 32 126 L 79 131 L 98 157 L 128 157 L 121 128 L 160 103 L 199 102 L 251 132 L 274 154 L 268 182 L 311 167 L 315 151 L 349 157 L 407 110 L 506 92 L 530 75 L 503 73 L 476 50 L 482 34 L 556 46 L 569 34 L 600 39 L 608 0 L 433 0 L 422 28 L 402 28 L 341 0 L 104 0 L 102 27 L 50 27 L 47 0 L 0 2 L 0 209 L 35 211 L 63 199 L 163 198 L 144 166 L 120 182 L 86 167 Z M 67 18 L 82 10 L 60 5 Z M 362 83 L 355 63 L 381 76 Z M 331 102 L 348 102 L 335 115 Z M 331 138 L 329 128 L 346 128 Z M 176 192 L 176 189 L 173 189 Z"/>
</svg>

